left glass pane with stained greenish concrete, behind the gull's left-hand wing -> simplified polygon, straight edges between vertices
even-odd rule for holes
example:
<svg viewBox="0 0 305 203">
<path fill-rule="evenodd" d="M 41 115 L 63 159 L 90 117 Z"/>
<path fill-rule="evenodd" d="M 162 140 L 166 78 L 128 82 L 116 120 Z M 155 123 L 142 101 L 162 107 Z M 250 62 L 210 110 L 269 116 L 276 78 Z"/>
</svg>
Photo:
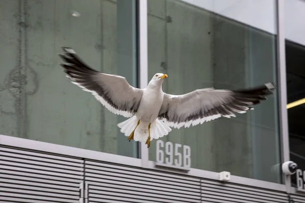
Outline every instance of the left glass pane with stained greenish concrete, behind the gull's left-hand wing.
<svg viewBox="0 0 305 203">
<path fill-rule="evenodd" d="M 0 134 L 137 157 L 125 118 L 72 84 L 58 65 L 73 47 L 97 71 L 136 86 L 135 0 L 3 0 Z"/>
</svg>

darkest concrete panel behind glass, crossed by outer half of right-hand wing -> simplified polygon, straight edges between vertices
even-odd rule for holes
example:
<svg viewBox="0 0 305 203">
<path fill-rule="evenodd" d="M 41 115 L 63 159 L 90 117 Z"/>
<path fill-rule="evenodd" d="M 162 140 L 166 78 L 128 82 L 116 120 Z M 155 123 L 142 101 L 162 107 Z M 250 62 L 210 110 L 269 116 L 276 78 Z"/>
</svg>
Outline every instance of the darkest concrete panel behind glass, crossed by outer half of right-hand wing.
<svg viewBox="0 0 305 203">
<path fill-rule="evenodd" d="M 213 18 L 212 51 L 214 86 L 218 89 L 238 89 L 246 86 L 249 69 L 248 29 L 223 17 Z M 252 177 L 253 159 L 248 114 L 236 118 L 220 118 L 214 123 L 215 164 L 219 172 Z"/>
</svg>

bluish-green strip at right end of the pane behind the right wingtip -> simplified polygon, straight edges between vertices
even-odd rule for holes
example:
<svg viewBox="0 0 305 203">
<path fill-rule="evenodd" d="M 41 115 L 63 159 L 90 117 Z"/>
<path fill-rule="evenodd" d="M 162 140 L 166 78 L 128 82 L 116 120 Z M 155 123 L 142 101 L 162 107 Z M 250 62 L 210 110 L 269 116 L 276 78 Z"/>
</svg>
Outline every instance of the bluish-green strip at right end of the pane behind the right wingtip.
<svg viewBox="0 0 305 203">
<path fill-rule="evenodd" d="M 276 36 L 256 29 L 249 29 L 249 78 L 247 86 L 277 82 Z M 255 107 L 249 115 L 251 121 L 253 177 L 280 182 L 280 174 L 270 170 L 281 162 L 278 101 L 279 91 Z"/>
</svg>

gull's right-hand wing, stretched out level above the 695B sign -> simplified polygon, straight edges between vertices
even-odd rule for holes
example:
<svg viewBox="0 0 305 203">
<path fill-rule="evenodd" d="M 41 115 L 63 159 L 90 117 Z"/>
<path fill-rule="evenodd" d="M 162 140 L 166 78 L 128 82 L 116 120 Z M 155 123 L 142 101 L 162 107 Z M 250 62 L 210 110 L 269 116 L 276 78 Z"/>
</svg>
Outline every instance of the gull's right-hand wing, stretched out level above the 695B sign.
<svg viewBox="0 0 305 203">
<path fill-rule="evenodd" d="M 275 85 L 267 83 L 246 90 L 217 90 L 213 88 L 197 89 L 183 95 L 164 94 L 164 100 L 158 118 L 168 126 L 198 125 L 222 116 L 235 117 L 235 113 L 246 113 L 272 94 Z"/>
</svg>

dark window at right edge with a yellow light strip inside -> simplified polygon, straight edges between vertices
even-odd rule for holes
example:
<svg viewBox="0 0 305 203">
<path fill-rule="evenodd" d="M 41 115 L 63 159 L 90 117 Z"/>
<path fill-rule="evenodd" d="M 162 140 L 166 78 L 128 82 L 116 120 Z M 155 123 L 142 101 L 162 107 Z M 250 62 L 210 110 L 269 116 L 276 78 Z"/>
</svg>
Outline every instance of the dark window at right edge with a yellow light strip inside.
<svg viewBox="0 0 305 203">
<path fill-rule="evenodd" d="M 305 46 L 286 41 L 287 111 L 290 160 L 298 165 L 292 186 L 305 192 Z"/>
</svg>

